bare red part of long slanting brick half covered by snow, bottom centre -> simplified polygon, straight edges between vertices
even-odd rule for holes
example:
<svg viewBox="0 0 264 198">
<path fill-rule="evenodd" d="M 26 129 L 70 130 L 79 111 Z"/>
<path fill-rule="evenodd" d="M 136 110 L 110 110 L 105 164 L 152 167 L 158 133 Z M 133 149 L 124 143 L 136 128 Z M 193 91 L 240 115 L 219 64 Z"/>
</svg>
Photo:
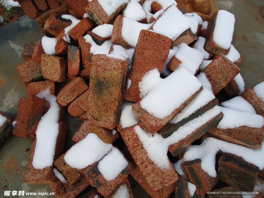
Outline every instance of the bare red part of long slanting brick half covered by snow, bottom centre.
<svg viewBox="0 0 264 198">
<path fill-rule="evenodd" d="M 140 125 L 137 124 L 136 126 Z M 143 143 L 139 140 L 134 127 L 122 130 L 120 134 L 148 186 L 152 190 L 158 191 L 175 183 L 179 177 L 172 164 L 167 169 L 156 166 L 148 157 L 148 152 L 144 149 Z"/>
</svg>

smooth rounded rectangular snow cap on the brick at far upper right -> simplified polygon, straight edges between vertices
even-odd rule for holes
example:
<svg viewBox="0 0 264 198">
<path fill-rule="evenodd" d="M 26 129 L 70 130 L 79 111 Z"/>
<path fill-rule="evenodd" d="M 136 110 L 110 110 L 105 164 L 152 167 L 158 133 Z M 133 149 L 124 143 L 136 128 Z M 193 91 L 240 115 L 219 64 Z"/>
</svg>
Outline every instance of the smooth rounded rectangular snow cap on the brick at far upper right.
<svg viewBox="0 0 264 198">
<path fill-rule="evenodd" d="M 225 10 L 219 10 L 216 16 L 213 39 L 221 48 L 229 49 L 233 38 L 235 16 Z"/>
</svg>

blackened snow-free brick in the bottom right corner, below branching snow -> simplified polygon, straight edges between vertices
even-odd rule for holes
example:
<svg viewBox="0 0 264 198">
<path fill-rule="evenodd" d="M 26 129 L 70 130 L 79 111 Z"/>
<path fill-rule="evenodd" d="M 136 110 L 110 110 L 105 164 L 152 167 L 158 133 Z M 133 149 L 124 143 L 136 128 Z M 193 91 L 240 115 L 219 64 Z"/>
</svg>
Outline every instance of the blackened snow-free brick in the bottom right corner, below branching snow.
<svg viewBox="0 0 264 198">
<path fill-rule="evenodd" d="M 230 153 L 219 158 L 218 166 L 217 176 L 221 181 L 241 191 L 254 191 L 259 173 L 257 166 Z"/>
</svg>

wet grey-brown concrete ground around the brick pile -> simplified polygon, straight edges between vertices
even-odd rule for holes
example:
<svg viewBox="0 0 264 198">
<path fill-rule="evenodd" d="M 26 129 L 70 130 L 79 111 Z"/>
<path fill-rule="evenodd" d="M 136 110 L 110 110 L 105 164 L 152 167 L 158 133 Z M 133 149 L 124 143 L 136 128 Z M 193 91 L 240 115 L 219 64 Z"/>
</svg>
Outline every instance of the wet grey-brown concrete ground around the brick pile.
<svg viewBox="0 0 264 198">
<path fill-rule="evenodd" d="M 232 44 L 239 51 L 244 61 L 239 65 L 245 81 L 245 88 L 264 80 L 264 2 L 262 0 L 212 0 L 213 10 L 227 10 L 235 15 L 235 30 Z M 22 51 L 26 41 L 37 41 L 43 36 L 35 20 L 27 16 L 0 28 L 0 111 L 15 118 L 20 97 L 27 97 L 27 87 L 23 84 L 16 69 L 25 62 Z M 73 141 L 74 133 L 82 120 L 66 115 L 68 125 L 66 140 L 67 150 Z M 25 192 L 51 192 L 48 185 L 28 185 L 22 182 L 33 139 L 11 135 L 0 147 L 0 197 L 5 190 L 24 190 Z M 26 149 L 29 149 L 26 152 Z M 136 182 L 133 181 L 133 185 Z M 5 188 L 5 189 L 4 189 Z M 135 198 L 150 198 L 141 187 L 134 189 Z M 19 196 L 19 197 L 32 197 Z M 43 197 L 43 196 L 34 196 Z M 54 196 L 47 196 L 54 197 Z M 172 196 L 173 197 L 173 196 Z"/>
</svg>

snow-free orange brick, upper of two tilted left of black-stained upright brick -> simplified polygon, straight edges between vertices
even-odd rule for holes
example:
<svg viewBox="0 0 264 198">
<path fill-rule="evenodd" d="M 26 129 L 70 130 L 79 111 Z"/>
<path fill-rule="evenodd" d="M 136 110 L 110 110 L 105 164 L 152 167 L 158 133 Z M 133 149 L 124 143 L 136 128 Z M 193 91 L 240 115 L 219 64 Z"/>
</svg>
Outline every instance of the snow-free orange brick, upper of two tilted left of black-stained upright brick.
<svg viewBox="0 0 264 198">
<path fill-rule="evenodd" d="M 62 106 L 67 106 L 87 89 L 88 86 L 86 85 L 86 82 L 84 82 L 83 78 L 77 77 L 59 91 L 57 102 Z"/>
</svg>

